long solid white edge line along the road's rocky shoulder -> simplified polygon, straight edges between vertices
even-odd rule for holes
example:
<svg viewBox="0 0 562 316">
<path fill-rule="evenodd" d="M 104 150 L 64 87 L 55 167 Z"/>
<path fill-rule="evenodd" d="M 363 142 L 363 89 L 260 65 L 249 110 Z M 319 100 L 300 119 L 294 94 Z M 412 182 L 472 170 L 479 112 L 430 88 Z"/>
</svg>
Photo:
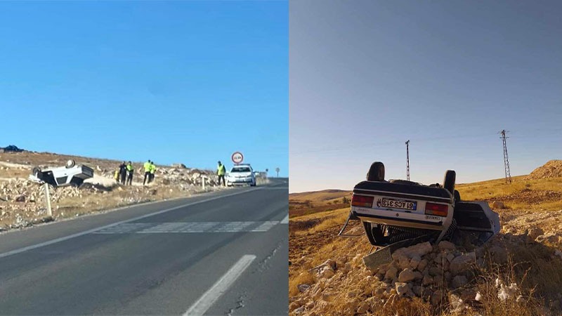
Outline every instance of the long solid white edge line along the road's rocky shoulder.
<svg viewBox="0 0 562 316">
<path fill-rule="evenodd" d="M 93 229 L 91 229 L 91 230 L 85 230 L 84 232 L 77 232 L 76 234 L 68 235 L 68 236 L 65 236 L 65 237 L 60 237 L 60 238 L 56 238 L 56 239 L 51 239 L 51 240 L 49 240 L 48 242 L 41 242 L 41 243 L 39 243 L 39 244 L 33 244 L 33 245 L 31 245 L 31 246 L 25 246 L 25 247 L 20 248 L 20 249 L 14 249 L 14 250 L 12 250 L 12 251 L 5 252 L 4 254 L 0 254 L 0 258 L 5 258 L 5 257 L 12 256 L 12 255 L 15 255 L 15 254 L 20 254 L 20 253 L 22 253 L 22 252 L 24 252 L 24 251 L 28 251 L 28 250 L 32 250 L 32 249 L 37 249 L 37 248 L 40 248 L 40 247 L 42 247 L 42 246 L 48 246 L 48 245 L 50 245 L 50 244 L 56 244 L 56 243 L 58 243 L 58 242 L 64 242 L 65 240 L 72 239 L 72 238 L 76 238 L 76 237 L 80 237 L 80 236 L 84 236 L 84 235 L 88 235 L 88 234 L 91 234 L 92 232 L 97 232 L 98 230 L 104 230 L 105 228 L 110 228 L 110 227 L 113 227 L 113 226 L 115 226 L 115 225 L 124 224 L 124 223 L 129 223 L 129 222 L 133 222 L 133 221 L 135 221 L 135 220 L 140 220 L 140 219 L 147 218 L 147 217 L 150 217 L 150 216 L 155 216 L 155 215 L 162 214 L 162 213 L 166 213 L 166 212 L 169 212 L 169 211 L 174 211 L 174 210 L 176 210 L 176 209 L 181 209 L 181 208 L 183 208 L 183 207 L 192 206 L 192 205 L 196 205 L 196 204 L 201 204 L 201 203 L 213 201 L 213 200 L 215 200 L 215 199 L 221 199 L 221 198 L 223 198 L 223 197 L 232 197 L 232 196 L 234 196 L 234 195 L 241 195 L 241 194 L 244 194 L 244 193 L 247 193 L 247 192 L 252 192 L 252 191 L 255 191 L 255 190 L 260 190 L 260 189 L 259 189 L 259 188 L 255 188 L 255 189 L 251 189 L 251 190 L 245 190 L 245 191 L 241 191 L 241 192 L 232 193 L 232 194 L 230 194 L 230 195 L 220 195 L 220 196 L 218 196 L 218 197 L 211 197 L 211 198 L 209 198 L 209 199 L 202 199 L 201 201 L 192 202 L 192 203 L 188 203 L 188 204 L 183 204 L 183 205 L 180 205 L 180 206 L 175 206 L 175 207 L 172 207 L 172 208 L 170 208 L 170 209 L 163 209 L 162 211 L 157 211 L 157 212 L 154 212 L 154 213 L 148 213 L 148 214 L 145 214 L 145 215 L 143 215 L 143 216 L 138 216 L 138 217 L 135 217 L 135 218 L 130 218 L 130 219 L 128 219 L 128 220 L 121 220 L 121 221 L 119 221 L 119 222 L 117 222 L 117 223 L 112 223 L 112 224 L 105 225 L 105 226 L 101 226 L 101 227 L 98 227 L 98 228 L 93 228 Z"/>
</svg>

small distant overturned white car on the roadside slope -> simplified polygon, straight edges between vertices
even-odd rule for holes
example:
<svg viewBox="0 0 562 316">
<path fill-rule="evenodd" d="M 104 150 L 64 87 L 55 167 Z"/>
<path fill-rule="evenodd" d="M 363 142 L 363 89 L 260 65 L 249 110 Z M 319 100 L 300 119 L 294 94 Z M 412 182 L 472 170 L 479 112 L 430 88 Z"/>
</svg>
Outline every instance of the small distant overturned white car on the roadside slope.
<svg viewBox="0 0 562 316">
<path fill-rule="evenodd" d="M 79 187 L 84 180 L 93 177 L 93 169 L 89 166 L 77 166 L 74 160 L 69 160 L 66 166 L 41 170 L 35 167 L 30 175 L 30 180 L 37 183 L 48 183 L 53 187 L 74 185 Z"/>
</svg>

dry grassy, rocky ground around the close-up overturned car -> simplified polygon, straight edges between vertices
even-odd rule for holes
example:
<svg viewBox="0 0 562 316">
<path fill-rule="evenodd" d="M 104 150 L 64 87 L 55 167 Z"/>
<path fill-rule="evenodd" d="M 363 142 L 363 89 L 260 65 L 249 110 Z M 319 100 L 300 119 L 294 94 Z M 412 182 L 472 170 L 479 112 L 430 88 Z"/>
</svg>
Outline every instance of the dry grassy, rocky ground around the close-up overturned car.
<svg viewBox="0 0 562 316">
<path fill-rule="evenodd" d="M 502 230 L 485 245 L 417 244 L 373 270 L 362 262 L 371 249 L 359 223 L 348 234 L 360 237 L 337 237 L 348 208 L 291 217 L 289 315 L 562 315 L 562 209 L 555 208 L 561 193 L 558 178 L 549 178 L 557 174 L 553 166 L 535 172 L 548 181 L 528 179 L 509 192 L 490 189 L 495 183 L 470 187 L 490 195 L 500 215 Z"/>
</svg>

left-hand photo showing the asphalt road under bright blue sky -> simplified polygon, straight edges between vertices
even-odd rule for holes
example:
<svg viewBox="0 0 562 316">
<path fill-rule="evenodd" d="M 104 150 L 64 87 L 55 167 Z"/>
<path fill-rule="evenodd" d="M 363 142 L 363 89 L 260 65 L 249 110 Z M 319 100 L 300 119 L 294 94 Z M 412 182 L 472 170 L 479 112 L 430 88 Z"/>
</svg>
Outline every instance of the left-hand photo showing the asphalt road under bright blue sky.
<svg viewBox="0 0 562 316">
<path fill-rule="evenodd" d="M 0 315 L 287 315 L 288 1 L 0 2 Z"/>
</svg>

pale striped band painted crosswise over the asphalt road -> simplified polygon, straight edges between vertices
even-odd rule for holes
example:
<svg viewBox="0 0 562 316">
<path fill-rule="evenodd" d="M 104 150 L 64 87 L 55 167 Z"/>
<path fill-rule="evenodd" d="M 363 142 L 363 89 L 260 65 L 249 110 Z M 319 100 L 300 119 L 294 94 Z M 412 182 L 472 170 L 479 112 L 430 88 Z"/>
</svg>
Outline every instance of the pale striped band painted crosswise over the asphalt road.
<svg viewBox="0 0 562 316">
<path fill-rule="evenodd" d="M 93 234 L 267 232 L 279 223 L 278 220 L 265 222 L 122 223 L 98 230 L 97 232 L 93 232 Z"/>
</svg>

